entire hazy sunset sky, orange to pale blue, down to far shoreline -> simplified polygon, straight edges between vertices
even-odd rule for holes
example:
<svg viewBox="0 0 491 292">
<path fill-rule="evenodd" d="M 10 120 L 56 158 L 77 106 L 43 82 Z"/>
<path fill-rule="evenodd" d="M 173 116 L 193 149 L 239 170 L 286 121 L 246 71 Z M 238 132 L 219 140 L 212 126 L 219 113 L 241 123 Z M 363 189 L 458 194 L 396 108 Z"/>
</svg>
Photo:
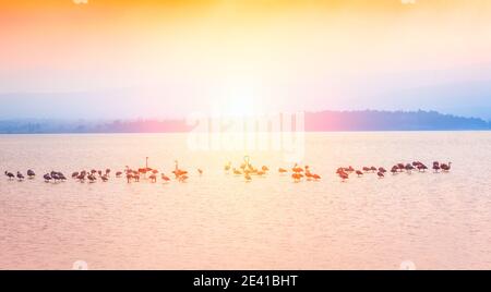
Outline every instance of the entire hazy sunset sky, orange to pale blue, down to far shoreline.
<svg viewBox="0 0 491 292">
<path fill-rule="evenodd" d="M 491 119 L 491 1 L 410 2 L 2 0 L 0 119 L 218 107 Z"/>
</svg>

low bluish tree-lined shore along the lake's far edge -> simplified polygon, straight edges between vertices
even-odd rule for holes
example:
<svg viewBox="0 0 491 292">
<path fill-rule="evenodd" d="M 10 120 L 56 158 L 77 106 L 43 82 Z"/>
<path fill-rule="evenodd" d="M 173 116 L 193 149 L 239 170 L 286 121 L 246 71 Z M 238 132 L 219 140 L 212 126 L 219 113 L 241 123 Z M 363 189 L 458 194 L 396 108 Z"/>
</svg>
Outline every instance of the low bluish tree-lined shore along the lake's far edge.
<svg viewBox="0 0 491 292">
<path fill-rule="evenodd" d="M 0 134 L 49 133 L 177 133 L 193 129 L 184 120 L 0 120 Z M 474 131 L 491 130 L 491 122 L 436 111 L 306 112 L 308 132 L 328 131 Z"/>
</svg>

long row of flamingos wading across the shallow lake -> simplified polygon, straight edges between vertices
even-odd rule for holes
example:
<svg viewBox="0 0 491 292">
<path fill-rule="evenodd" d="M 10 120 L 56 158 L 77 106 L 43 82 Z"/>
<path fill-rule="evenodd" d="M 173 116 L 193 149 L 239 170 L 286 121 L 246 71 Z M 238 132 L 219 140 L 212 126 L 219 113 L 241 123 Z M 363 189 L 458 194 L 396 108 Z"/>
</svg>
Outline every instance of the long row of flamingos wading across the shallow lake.
<svg viewBox="0 0 491 292">
<path fill-rule="evenodd" d="M 433 171 L 435 173 L 443 171 L 448 172 L 452 168 L 452 162 L 448 163 L 440 163 L 439 161 L 433 162 Z M 391 172 L 393 175 L 396 175 L 402 172 L 406 172 L 410 174 L 412 171 L 417 170 L 418 172 L 426 172 L 429 168 L 420 162 L 420 161 L 414 161 L 412 163 L 397 163 L 394 165 L 391 168 Z M 232 167 L 231 161 L 228 161 L 224 167 L 225 173 L 233 174 L 235 177 L 243 177 L 246 182 L 251 182 L 253 180 L 253 177 L 256 178 L 263 178 L 268 174 L 270 168 L 267 166 L 262 167 L 254 167 L 251 163 L 250 157 L 246 156 L 243 158 L 243 162 L 240 163 L 238 168 Z M 298 163 L 295 163 L 295 166 L 288 170 L 285 168 L 278 168 L 278 173 L 280 175 L 286 175 L 287 173 L 291 172 L 291 179 L 294 182 L 299 183 L 302 180 L 306 181 L 320 181 L 321 175 L 318 173 L 312 172 L 311 168 L 309 166 L 300 167 Z M 203 175 L 204 171 L 202 169 L 196 169 L 197 174 L 201 177 Z M 350 174 L 356 174 L 358 178 L 363 177 L 367 173 L 376 173 L 379 179 L 385 178 L 385 173 L 387 170 L 383 167 L 362 167 L 361 169 L 355 169 L 351 166 L 349 167 L 340 167 L 336 170 L 336 174 L 342 179 L 343 182 L 346 182 L 349 179 Z M 171 172 L 173 174 L 173 179 L 177 182 L 184 183 L 189 180 L 189 172 L 187 170 L 180 169 L 179 162 L 175 161 L 175 170 Z M 14 174 L 13 172 L 5 171 L 4 174 L 9 180 L 19 180 L 24 181 L 26 177 L 24 177 L 23 173 L 20 171 Z M 27 179 L 34 179 L 36 177 L 36 173 L 33 170 L 27 170 L 26 172 Z M 76 180 L 79 182 L 89 182 L 95 183 L 98 180 L 101 182 L 107 182 L 110 178 L 111 170 L 106 169 L 103 170 L 82 170 L 76 171 L 72 173 L 72 179 Z M 159 172 L 157 169 L 153 169 L 148 167 L 148 157 L 146 157 L 146 163 L 145 167 L 137 168 L 137 169 L 131 169 L 130 167 L 125 167 L 124 171 L 117 171 L 115 173 L 116 178 L 122 178 L 123 175 L 127 179 L 128 183 L 131 182 L 140 182 L 140 178 L 148 179 L 151 182 L 155 183 L 157 182 L 158 174 L 160 174 L 160 180 L 164 183 L 168 183 L 171 181 L 171 179 L 165 174 L 164 172 Z M 148 177 L 147 177 L 148 175 Z M 43 175 L 43 179 L 45 182 L 63 182 L 67 181 L 67 178 L 62 172 L 59 171 L 51 171 Z"/>
</svg>

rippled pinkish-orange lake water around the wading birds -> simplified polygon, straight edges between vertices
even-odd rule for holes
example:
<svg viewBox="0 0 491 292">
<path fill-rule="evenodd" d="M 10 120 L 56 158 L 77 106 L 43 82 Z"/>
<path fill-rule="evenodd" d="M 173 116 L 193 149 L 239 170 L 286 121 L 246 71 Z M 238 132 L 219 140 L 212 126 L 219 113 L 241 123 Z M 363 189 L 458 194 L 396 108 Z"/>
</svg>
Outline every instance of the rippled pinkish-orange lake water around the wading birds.
<svg viewBox="0 0 491 292">
<path fill-rule="evenodd" d="M 185 134 L 0 136 L 0 269 L 491 269 L 491 132 L 312 133 L 323 179 L 294 183 L 282 156 L 250 153 L 266 178 L 224 173 L 243 153 L 188 150 Z M 173 161 L 188 183 L 45 183 L 51 170 Z M 452 161 L 450 173 L 340 182 L 339 166 Z M 200 177 L 197 168 L 204 170 Z M 9 181 L 3 171 L 37 178 Z"/>
</svg>

